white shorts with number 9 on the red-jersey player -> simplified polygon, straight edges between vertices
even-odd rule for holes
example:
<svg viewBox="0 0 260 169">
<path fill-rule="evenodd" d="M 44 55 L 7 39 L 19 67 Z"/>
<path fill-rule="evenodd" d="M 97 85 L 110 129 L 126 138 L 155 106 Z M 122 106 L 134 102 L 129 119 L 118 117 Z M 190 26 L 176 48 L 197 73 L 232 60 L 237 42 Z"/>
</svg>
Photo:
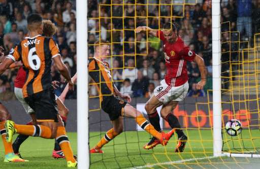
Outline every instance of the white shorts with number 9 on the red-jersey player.
<svg viewBox="0 0 260 169">
<path fill-rule="evenodd" d="M 188 90 L 188 81 L 181 86 L 171 88 L 165 80 L 161 80 L 160 86 L 157 86 L 153 93 L 160 102 L 167 104 L 170 101 L 182 101 L 186 97 Z"/>
</svg>

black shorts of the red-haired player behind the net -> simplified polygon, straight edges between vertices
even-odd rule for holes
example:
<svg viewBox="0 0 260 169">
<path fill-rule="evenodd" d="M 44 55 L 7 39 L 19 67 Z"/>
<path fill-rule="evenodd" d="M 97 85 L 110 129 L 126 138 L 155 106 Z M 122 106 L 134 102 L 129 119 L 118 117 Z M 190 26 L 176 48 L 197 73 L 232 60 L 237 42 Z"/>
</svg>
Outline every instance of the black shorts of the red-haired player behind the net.
<svg viewBox="0 0 260 169">
<path fill-rule="evenodd" d="M 104 97 L 101 103 L 102 109 L 109 115 L 111 121 L 122 116 L 122 108 L 126 105 L 124 100 L 119 100 L 114 96 Z"/>
</svg>

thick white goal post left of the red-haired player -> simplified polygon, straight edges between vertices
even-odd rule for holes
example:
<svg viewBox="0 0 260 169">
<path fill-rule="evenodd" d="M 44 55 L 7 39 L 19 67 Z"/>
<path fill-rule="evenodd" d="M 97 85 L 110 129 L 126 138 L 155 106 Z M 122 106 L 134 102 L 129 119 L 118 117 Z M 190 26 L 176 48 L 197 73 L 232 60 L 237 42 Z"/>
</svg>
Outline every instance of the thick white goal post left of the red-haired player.
<svg viewBox="0 0 260 169">
<path fill-rule="evenodd" d="M 89 168 L 87 1 L 77 0 L 77 146 L 78 168 Z"/>
</svg>

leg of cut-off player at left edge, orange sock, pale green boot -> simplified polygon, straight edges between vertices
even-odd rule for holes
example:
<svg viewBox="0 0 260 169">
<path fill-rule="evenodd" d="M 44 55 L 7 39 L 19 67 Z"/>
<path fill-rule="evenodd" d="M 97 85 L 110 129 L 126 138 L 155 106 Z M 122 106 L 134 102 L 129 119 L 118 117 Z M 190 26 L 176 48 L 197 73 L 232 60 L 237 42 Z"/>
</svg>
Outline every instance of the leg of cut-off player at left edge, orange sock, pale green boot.
<svg viewBox="0 0 260 169">
<path fill-rule="evenodd" d="M 12 143 L 8 143 L 6 140 L 6 135 L 7 135 L 7 132 L 5 129 L 6 120 L 11 120 L 11 115 L 9 114 L 6 107 L 0 103 L 0 133 L 2 136 L 3 145 L 5 148 L 4 162 L 25 162 L 27 160 L 23 160 L 14 154 Z"/>
</svg>

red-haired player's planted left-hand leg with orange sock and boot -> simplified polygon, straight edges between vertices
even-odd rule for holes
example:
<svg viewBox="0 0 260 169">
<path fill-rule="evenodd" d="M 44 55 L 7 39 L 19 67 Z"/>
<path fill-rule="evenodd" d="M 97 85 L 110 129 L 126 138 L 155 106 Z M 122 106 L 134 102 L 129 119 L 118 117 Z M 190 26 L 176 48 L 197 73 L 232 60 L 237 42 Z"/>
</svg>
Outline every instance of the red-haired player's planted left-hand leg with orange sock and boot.
<svg viewBox="0 0 260 169">
<path fill-rule="evenodd" d="M 99 143 L 90 150 L 90 153 L 104 153 L 101 148 L 123 131 L 123 118 L 121 116 L 119 116 L 118 119 L 111 121 L 111 123 L 113 128 L 107 131 Z"/>
</svg>

